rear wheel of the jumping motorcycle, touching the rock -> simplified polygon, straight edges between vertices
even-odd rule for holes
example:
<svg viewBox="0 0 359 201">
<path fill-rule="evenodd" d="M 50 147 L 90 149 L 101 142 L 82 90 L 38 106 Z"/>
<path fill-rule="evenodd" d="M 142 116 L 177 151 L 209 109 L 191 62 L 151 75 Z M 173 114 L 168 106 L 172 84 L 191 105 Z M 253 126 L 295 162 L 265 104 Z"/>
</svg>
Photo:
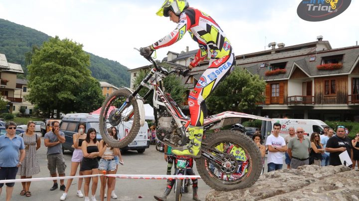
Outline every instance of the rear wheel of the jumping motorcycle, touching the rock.
<svg viewBox="0 0 359 201">
<path fill-rule="evenodd" d="M 217 191 L 233 191 L 252 186 L 259 178 L 263 162 L 254 141 L 237 131 L 222 130 L 203 139 L 202 151 L 219 157 L 213 162 L 202 155 L 195 159 L 198 174 Z"/>
</svg>

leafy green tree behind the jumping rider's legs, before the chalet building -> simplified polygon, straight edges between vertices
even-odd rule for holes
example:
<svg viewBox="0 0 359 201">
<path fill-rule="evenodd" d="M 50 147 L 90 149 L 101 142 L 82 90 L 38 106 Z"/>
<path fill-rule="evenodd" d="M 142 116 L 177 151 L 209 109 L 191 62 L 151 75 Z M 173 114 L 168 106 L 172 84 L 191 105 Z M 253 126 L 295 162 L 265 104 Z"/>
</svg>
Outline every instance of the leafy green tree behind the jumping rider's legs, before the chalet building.
<svg viewBox="0 0 359 201">
<path fill-rule="evenodd" d="M 262 94 L 266 82 L 257 74 L 252 75 L 244 68 L 236 68 L 206 99 L 212 113 L 254 109 L 255 103 L 264 101 Z"/>
</svg>

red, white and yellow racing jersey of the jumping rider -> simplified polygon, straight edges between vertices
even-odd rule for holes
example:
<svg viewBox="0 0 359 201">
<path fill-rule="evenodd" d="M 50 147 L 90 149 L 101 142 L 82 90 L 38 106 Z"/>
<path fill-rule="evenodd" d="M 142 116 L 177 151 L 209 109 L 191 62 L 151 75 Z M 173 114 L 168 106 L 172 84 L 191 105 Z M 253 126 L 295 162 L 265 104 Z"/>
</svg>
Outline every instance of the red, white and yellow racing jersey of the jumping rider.
<svg viewBox="0 0 359 201">
<path fill-rule="evenodd" d="M 209 15 L 192 7 L 183 10 L 176 29 L 152 44 L 151 48 L 157 50 L 170 46 L 179 41 L 186 31 L 199 46 L 194 60 L 190 63 L 192 67 L 206 57 L 215 60 L 233 53 L 231 44 L 219 25 Z"/>
</svg>

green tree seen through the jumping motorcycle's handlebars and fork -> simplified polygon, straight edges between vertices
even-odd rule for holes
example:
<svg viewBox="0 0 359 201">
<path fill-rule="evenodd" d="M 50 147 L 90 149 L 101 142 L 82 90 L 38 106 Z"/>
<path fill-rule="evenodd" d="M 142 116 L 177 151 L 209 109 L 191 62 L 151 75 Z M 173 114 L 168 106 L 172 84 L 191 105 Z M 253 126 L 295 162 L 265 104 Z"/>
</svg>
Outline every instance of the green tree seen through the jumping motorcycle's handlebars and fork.
<svg viewBox="0 0 359 201">
<path fill-rule="evenodd" d="M 166 66 L 164 63 L 160 64 L 161 66 Z M 137 76 L 134 78 L 133 82 L 134 82 L 134 88 L 137 88 L 137 86 L 140 85 L 141 81 L 145 78 L 145 76 L 147 75 L 147 72 L 145 70 L 141 70 L 139 73 L 137 73 Z M 177 75 L 169 75 L 167 76 L 164 80 L 164 86 L 165 86 L 165 91 L 167 93 L 171 94 L 171 97 L 174 99 L 174 101 L 178 104 L 178 105 L 183 105 L 183 102 L 185 100 L 185 92 L 186 92 L 186 88 L 184 87 L 184 85 L 181 82 L 181 77 L 177 76 Z M 147 91 L 149 91 L 148 88 L 143 88 L 140 90 L 139 94 L 140 96 L 144 96 Z M 150 94 L 150 96 L 146 99 L 146 103 L 149 103 L 150 105 L 153 105 L 152 103 L 152 98 L 153 98 L 153 92 Z"/>
</svg>

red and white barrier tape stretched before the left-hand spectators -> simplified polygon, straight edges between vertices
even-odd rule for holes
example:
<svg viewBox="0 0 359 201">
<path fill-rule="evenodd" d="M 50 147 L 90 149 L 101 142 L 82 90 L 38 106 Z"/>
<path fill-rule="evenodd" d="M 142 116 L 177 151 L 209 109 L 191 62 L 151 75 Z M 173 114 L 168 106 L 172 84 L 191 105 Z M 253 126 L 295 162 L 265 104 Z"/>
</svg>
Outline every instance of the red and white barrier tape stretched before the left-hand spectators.
<svg viewBox="0 0 359 201">
<path fill-rule="evenodd" d="M 18 183 L 18 182 L 39 182 L 39 181 L 49 181 L 49 180 L 58 180 L 58 179 L 76 179 L 76 178 L 85 178 L 85 177 L 96 177 L 103 176 L 103 174 L 97 175 L 82 175 L 82 176 L 65 176 L 65 177 L 42 177 L 42 178 L 31 178 L 31 179 L 9 179 L 9 180 L 0 180 L 2 183 Z M 115 177 L 120 179 L 200 179 L 198 175 L 123 175 L 123 174 L 108 174 L 107 177 Z"/>
</svg>

